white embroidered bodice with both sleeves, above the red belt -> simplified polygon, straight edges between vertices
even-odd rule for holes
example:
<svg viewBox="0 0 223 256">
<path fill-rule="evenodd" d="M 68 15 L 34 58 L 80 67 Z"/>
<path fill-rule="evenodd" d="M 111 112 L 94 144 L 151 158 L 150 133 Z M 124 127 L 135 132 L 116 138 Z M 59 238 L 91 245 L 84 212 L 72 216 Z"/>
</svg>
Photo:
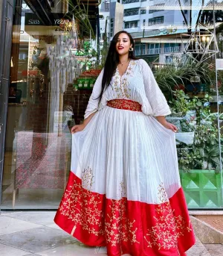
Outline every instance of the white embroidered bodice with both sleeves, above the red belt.
<svg viewBox="0 0 223 256">
<path fill-rule="evenodd" d="M 142 111 L 146 115 L 167 116 L 171 112 L 164 94 L 155 81 L 152 70 L 145 60 L 131 60 L 126 73 L 120 77 L 118 69 L 111 79 L 110 86 L 103 93 L 99 104 L 103 70 L 94 84 L 94 89 L 85 110 L 85 119 L 91 113 L 106 107 L 111 99 L 132 99 L 142 105 Z"/>
</svg>

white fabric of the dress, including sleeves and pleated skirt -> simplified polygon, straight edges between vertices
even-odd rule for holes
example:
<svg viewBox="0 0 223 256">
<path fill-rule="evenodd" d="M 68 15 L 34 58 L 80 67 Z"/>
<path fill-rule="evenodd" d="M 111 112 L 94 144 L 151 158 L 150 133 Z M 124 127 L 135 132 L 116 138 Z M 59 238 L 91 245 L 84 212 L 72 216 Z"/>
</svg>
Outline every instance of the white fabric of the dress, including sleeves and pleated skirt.
<svg viewBox="0 0 223 256">
<path fill-rule="evenodd" d="M 71 172 L 82 179 L 85 189 L 106 194 L 107 199 L 125 196 L 128 200 L 159 204 L 181 187 L 175 134 L 149 115 L 167 114 L 169 107 L 147 64 L 143 60 L 135 62 L 134 74 L 129 78 L 129 96 L 143 105 L 143 112 L 105 106 L 106 100 L 118 99 L 114 95 L 121 93 L 117 88 L 120 84 L 114 86 L 115 91 L 106 90 L 97 113 L 83 131 L 72 136 Z M 149 78 L 143 77 L 143 69 Z M 117 72 L 115 75 L 116 80 L 120 79 Z M 93 96 L 99 91 L 94 88 Z M 97 110 L 97 100 L 92 97 L 86 115 Z M 167 196 L 161 197 L 161 188 Z"/>
</svg>

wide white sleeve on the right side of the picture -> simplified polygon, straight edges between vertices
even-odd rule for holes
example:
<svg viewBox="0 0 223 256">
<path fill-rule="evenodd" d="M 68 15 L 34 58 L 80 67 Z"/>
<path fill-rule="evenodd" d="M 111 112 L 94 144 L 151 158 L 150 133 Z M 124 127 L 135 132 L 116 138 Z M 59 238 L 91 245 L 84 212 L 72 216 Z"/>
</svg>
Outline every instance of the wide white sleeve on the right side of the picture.
<svg viewBox="0 0 223 256">
<path fill-rule="evenodd" d="M 169 105 L 160 87 L 155 81 L 155 77 L 145 60 L 140 60 L 143 83 L 146 92 L 146 98 L 152 107 L 152 116 L 167 116 L 171 113 Z"/>
</svg>

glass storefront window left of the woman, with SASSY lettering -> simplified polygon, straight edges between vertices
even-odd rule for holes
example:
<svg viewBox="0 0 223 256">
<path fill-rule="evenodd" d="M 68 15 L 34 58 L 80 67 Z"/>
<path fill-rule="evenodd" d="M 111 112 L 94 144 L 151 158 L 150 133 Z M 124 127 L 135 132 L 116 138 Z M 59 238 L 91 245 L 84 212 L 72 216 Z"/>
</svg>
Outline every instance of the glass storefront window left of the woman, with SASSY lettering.
<svg viewBox="0 0 223 256">
<path fill-rule="evenodd" d="M 56 209 L 65 189 L 69 128 L 83 121 L 97 78 L 78 80 L 81 70 L 93 74 L 95 54 L 89 36 L 77 38 L 81 25 L 66 3 L 44 15 L 44 6 L 22 1 L 14 16 L 2 209 Z"/>
</svg>

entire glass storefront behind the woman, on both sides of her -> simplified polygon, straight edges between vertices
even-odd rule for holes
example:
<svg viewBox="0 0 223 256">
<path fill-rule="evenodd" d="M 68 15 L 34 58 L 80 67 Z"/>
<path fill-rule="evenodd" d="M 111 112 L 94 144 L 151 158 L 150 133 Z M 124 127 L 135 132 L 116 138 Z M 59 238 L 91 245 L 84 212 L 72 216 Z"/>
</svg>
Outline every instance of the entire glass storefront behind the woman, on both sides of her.
<svg viewBox="0 0 223 256">
<path fill-rule="evenodd" d="M 188 207 L 222 208 L 221 1 L 204 1 L 201 13 L 185 0 L 182 10 L 143 0 L 109 10 L 103 1 L 104 19 L 98 20 L 96 7 L 89 5 L 91 14 L 77 19 L 74 1 L 57 2 L 42 1 L 45 13 L 36 1 L 24 0 L 14 13 L 1 207 L 58 207 L 70 170 L 69 128 L 83 122 L 102 68 L 97 65 L 105 60 L 109 39 L 125 29 L 172 108 L 167 119 L 179 129 L 178 163 Z"/>
</svg>

